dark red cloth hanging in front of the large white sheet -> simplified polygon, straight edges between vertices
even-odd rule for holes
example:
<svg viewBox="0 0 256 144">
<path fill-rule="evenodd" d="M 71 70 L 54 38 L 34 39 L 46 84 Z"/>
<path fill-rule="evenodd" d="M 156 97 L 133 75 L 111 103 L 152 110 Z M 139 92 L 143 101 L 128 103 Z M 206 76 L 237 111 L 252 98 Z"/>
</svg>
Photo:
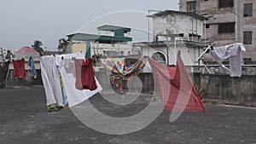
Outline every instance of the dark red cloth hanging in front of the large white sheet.
<svg viewBox="0 0 256 144">
<path fill-rule="evenodd" d="M 93 72 L 92 58 L 75 60 L 76 69 L 76 89 L 97 89 L 96 79 Z"/>
</svg>

